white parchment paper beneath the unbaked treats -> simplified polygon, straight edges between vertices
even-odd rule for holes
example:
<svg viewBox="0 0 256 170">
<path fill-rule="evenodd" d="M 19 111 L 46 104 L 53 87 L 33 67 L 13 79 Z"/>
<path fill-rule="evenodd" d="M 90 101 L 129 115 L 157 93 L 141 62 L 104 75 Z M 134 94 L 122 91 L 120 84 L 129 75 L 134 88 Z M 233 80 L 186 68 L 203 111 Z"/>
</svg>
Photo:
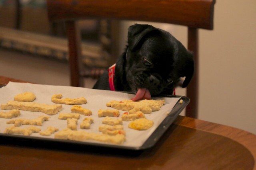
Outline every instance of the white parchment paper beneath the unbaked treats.
<svg viewBox="0 0 256 170">
<path fill-rule="evenodd" d="M 107 90 L 94 90 L 88 88 L 78 88 L 70 86 L 50 86 L 41 84 L 30 84 L 30 83 L 16 83 L 9 82 L 5 87 L 0 88 L 0 104 L 6 104 L 10 100 L 14 100 L 14 96 L 24 92 L 32 92 L 36 95 L 36 100 L 34 102 L 41 104 L 54 104 L 51 102 L 51 97 L 54 94 L 62 94 L 62 98 L 80 98 L 84 97 L 87 100 L 87 104 L 82 104 L 80 106 L 90 109 L 92 111 L 91 117 L 94 119 L 94 123 L 91 124 L 91 129 L 80 129 L 80 123 L 84 119 L 84 115 L 80 115 L 78 119 L 77 130 L 88 131 L 93 133 L 101 133 L 98 131 L 98 126 L 102 125 L 102 119 L 104 117 L 98 117 L 98 109 L 112 109 L 106 107 L 106 103 L 111 100 L 130 100 L 134 95 L 126 94 L 122 92 L 113 92 Z M 156 98 L 153 98 L 156 99 Z M 150 137 L 154 130 L 160 125 L 164 118 L 175 106 L 176 102 L 180 98 L 164 98 L 165 105 L 161 107 L 160 111 L 154 111 L 151 114 L 146 114 L 146 118 L 154 121 L 154 126 L 146 131 L 137 131 L 128 128 L 128 123 L 130 121 L 123 121 L 124 130 L 126 131 L 126 141 L 122 144 L 128 147 L 141 147 L 143 143 Z M 37 126 L 44 131 L 48 126 L 57 127 L 59 130 L 65 129 L 67 127 L 66 120 L 58 119 L 59 113 L 71 113 L 70 108 L 72 105 L 62 104 L 62 111 L 58 112 L 56 115 L 49 115 L 51 118 L 49 121 L 45 121 L 43 126 Z M 0 110 L 8 111 L 8 110 Z M 120 117 L 125 111 L 120 111 Z M 24 118 L 24 119 L 34 119 L 40 115 L 44 115 L 41 112 L 31 112 L 31 111 L 20 111 L 20 117 L 14 117 L 12 119 Z M 13 126 L 13 124 L 6 124 L 10 119 L 0 118 L 0 133 L 4 133 L 6 127 Z M 20 127 L 28 127 L 30 125 L 22 125 Z M 32 137 L 40 138 L 52 138 L 54 139 L 54 134 L 49 137 L 41 136 L 39 133 L 32 133 Z M 90 143 L 100 143 L 96 141 L 86 141 Z M 114 145 L 114 144 L 109 144 Z"/>
</svg>

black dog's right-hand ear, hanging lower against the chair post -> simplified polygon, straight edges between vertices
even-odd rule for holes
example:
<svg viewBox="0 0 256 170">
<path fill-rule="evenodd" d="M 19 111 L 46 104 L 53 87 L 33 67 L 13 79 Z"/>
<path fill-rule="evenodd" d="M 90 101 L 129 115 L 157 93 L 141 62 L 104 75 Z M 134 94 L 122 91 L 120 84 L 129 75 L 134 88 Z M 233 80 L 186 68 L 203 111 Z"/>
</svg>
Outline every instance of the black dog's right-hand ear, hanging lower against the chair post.
<svg viewBox="0 0 256 170">
<path fill-rule="evenodd" d="M 187 55 L 182 57 L 182 60 L 178 62 L 177 66 L 179 68 L 180 77 L 186 77 L 182 83 L 182 88 L 185 88 L 188 86 L 194 74 L 194 59 L 192 52 L 187 51 Z"/>
</svg>

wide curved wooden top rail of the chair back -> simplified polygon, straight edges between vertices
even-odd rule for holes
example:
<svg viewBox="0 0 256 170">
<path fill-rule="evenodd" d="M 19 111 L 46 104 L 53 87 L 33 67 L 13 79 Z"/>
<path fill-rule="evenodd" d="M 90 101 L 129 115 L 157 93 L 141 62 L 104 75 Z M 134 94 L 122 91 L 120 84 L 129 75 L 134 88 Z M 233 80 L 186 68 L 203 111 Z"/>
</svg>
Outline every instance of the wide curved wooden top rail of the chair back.
<svg viewBox="0 0 256 170">
<path fill-rule="evenodd" d="M 48 0 L 50 21 L 112 18 L 213 29 L 215 0 Z"/>
</svg>

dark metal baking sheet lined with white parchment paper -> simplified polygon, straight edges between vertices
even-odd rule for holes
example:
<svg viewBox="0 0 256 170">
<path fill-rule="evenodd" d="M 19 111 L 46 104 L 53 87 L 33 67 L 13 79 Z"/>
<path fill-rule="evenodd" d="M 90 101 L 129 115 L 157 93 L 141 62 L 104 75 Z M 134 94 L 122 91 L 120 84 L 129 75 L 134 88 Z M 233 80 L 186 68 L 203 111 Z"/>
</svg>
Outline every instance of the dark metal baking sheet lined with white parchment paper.
<svg viewBox="0 0 256 170">
<path fill-rule="evenodd" d="M 88 131 L 93 133 L 101 133 L 98 131 L 98 126 L 102 125 L 102 119 L 104 117 L 98 117 L 98 109 L 112 109 L 110 107 L 106 107 L 106 103 L 111 100 L 129 100 L 134 96 L 134 94 L 127 94 L 122 92 L 113 92 L 106 90 L 94 90 L 88 88 L 78 88 L 78 87 L 70 87 L 70 86 L 50 86 L 50 85 L 41 85 L 41 84 L 30 84 L 30 83 L 16 83 L 9 82 L 8 85 L 0 88 L 0 104 L 6 104 L 10 100 L 14 100 L 14 96 L 24 92 L 32 92 L 36 95 L 36 103 L 42 104 L 54 104 L 51 102 L 51 96 L 54 94 L 62 94 L 63 98 L 80 98 L 84 97 L 87 100 L 87 104 L 82 104 L 80 106 L 90 109 L 92 111 L 91 117 L 94 119 L 94 123 L 91 124 L 91 129 L 80 129 L 79 125 L 84 119 L 84 115 L 80 115 L 80 119 L 78 119 L 77 130 Z M 177 103 L 180 99 L 184 100 L 183 104 Z M 157 98 L 153 98 L 157 99 Z M 184 109 L 184 107 L 188 104 L 189 99 L 184 96 L 178 97 L 165 97 L 165 105 L 161 107 L 160 111 L 154 111 L 151 114 L 145 114 L 147 119 L 153 120 L 154 125 L 152 128 L 145 131 L 136 131 L 134 129 L 128 128 L 128 123 L 130 121 L 123 121 L 124 130 L 126 131 L 126 141 L 123 144 L 112 144 L 112 143 L 102 143 L 98 141 L 84 141 L 78 142 L 84 145 L 99 145 L 106 147 L 117 147 L 124 149 L 145 149 L 148 147 L 152 147 L 154 143 L 161 137 L 162 133 L 166 130 L 166 126 L 169 126 L 172 121 L 178 116 L 178 114 Z M 176 105 L 177 104 L 177 105 Z M 173 110 L 173 107 L 176 105 L 176 109 Z M 64 105 L 62 104 L 62 111 L 59 113 L 71 113 L 70 108 L 72 105 Z M 1 110 L 6 111 L 6 110 Z M 39 117 L 40 115 L 44 115 L 41 112 L 30 112 L 30 111 L 20 111 L 20 117 L 12 118 L 25 118 L 25 119 L 34 119 Z M 125 111 L 120 111 L 120 116 Z M 43 126 L 37 126 L 44 131 L 48 126 L 58 127 L 59 130 L 65 129 L 67 127 L 66 120 L 58 119 L 58 114 L 50 115 L 49 121 L 45 121 Z M 6 121 L 10 119 L 0 118 L 0 136 L 6 137 L 10 135 L 4 134 L 4 129 L 6 127 L 13 126 L 13 124 L 6 124 Z M 167 122 L 166 122 L 167 121 Z M 22 125 L 20 127 L 28 127 L 30 125 Z M 54 134 L 51 136 L 41 136 L 39 133 L 32 133 L 29 137 L 25 137 L 23 135 L 11 135 L 16 137 L 24 137 L 24 139 L 39 139 L 39 140 L 49 140 L 49 141 L 62 141 L 54 139 Z M 66 141 L 65 142 L 76 142 L 76 141 Z"/>
</svg>

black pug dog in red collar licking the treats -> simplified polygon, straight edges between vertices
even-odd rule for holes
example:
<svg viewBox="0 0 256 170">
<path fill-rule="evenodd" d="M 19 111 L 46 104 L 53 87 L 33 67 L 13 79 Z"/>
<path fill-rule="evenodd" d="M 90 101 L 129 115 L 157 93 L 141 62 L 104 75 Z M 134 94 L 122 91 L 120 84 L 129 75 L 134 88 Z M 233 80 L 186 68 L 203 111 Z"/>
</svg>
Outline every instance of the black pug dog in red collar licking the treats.
<svg viewBox="0 0 256 170">
<path fill-rule="evenodd" d="M 93 88 L 133 92 L 134 101 L 151 99 L 173 94 L 179 85 L 185 88 L 193 73 L 193 55 L 180 41 L 152 25 L 135 24 L 129 27 L 124 53 Z"/>
</svg>

